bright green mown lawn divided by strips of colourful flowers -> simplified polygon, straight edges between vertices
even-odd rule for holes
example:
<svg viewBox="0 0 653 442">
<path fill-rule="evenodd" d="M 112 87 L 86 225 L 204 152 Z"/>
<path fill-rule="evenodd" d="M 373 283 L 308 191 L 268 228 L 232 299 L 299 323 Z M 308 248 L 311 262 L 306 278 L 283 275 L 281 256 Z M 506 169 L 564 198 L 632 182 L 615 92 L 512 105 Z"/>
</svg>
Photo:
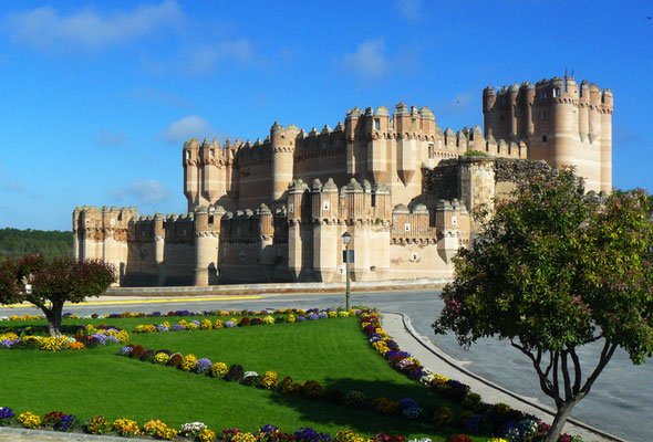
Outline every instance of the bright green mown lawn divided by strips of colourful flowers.
<svg viewBox="0 0 653 442">
<path fill-rule="evenodd" d="M 195 317 L 197 318 L 197 317 Z M 194 318 L 194 319 L 195 319 Z M 175 323 L 178 318 L 72 319 L 65 324 L 113 324 L 127 329 L 132 343 L 146 348 L 193 352 L 198 358 L 262 375 L 274 370 L 296 381 L 318 380 L 324 388 L 363 391 L 369 398 L 415 399 L 425 410 L 452 404 L 393 370 L 367 344 L 359 320 L 338 318 L 300 324 L 241 327 L 138 335 L 137 324 Z M 186 318 L 188 319 L 188 318 Z M 197 318 L 201 319 L 201 318 Z M 214 317 L 215 319 L 215 317 Z M 23 323 L 27 324 L 27 323 Z M 31 325 L 35 322 L 30 322 Z M 12 322 L 0 324 L 0 332 Z M 160 419 L 169 425 L 203 421 L 215 429 L 256 431 L 267 423 L 293 431 L 312 427 L 335 433 L 398 433 L 446 436 L 426 423 L 383 417 L 372 410 L 349 409 L 324 401 L 286 397 L 195 373 L 183 372 L 116 356 L 120 347 L 49 354 L 34 350 L 0 350 L 2 389 L 0 404 L 14 411 L 43 414 L 53 410 L 81 419 L 104 414 L 143 423 Z M 478 439 L 485 440 L 485 439 Z"/>
</svg>

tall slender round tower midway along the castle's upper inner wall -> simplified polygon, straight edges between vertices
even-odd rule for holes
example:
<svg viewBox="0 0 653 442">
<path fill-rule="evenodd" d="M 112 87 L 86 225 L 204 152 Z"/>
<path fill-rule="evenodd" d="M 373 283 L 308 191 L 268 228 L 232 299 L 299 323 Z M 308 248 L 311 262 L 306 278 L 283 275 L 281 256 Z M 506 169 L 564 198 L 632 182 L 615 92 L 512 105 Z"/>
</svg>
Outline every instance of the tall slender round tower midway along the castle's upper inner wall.
<svg viewBox="0 0 653 442">
<path fill-rule="evenodd" d="M 270 143 L 272 149 L 272 189 L 270 198 L 277 201 L 292 182 L 292 169 L 294 166 L 293 154 L 299 127 L 290 125 L 283 127 L 274 122 L 270 129 Z"/>
</svg>

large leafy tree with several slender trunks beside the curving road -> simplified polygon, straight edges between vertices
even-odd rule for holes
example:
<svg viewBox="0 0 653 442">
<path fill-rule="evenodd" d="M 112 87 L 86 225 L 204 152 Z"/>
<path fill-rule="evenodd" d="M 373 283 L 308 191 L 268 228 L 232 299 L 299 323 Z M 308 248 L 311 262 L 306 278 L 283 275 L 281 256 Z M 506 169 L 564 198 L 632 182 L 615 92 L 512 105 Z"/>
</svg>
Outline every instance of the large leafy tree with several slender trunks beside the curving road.
<svg viewBox="0 0 653 442">
<path fill-rule="evenodd" d="M 483 223 L 455 259 L 456 278 L 433 324 L 468 348 L 508 339 L 556 402 L 547 441 L 557 441 L 618 347 L 639 365 L 653 352 L 653 222 L 642 190 L 584 194 L 571 170 L 533 178 Z M 583 379 L 579 347 L 602 345 Z M 582 364 L 581 364 L 582 362 Z M 593 362 L 592 362 L 593 364 Z"/>
</svg>

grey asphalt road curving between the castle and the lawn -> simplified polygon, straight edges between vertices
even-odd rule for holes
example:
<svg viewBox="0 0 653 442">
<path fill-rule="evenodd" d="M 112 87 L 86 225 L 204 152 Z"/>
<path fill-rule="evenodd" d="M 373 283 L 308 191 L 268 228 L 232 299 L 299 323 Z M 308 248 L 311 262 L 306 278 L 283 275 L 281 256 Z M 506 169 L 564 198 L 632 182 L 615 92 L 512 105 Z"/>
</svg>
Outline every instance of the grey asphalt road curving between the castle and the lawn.
<svg viewBox="0 0 653 442">
<path fill-rule="evenodd" d="M 435 336 L 431 324 L 439 314 L 443 303 L 438 292 L 386 292 L 352 294 L 352 305 L 376 307 L 382 312 L 401 312 L 408 315 L 415 328 L 427 336 L 438 348 L 448 354 L 467 369 L 489 379 L 518 394 L 537 398 L 554 408 L 551 399 L 540 392 L 539 383 L 527 358 L 508 343 L 484 339 L 469 350 L 458 346 L 453 336 Z M 279 309 L 333 307 L 344 305 L 344 295 L 329 294 L 283 294 L 261 295 L 241 298 L 184 299 L 163 302 L 160 299 L 115 299 L 100 298 L 87 304 L 66 305 L 65 312 L 77 315 L 92 313 L 108 314 L 121 312 L 163 312 L 189 309 Z M 128 302 L 126 304 L 125 302 Z M 106 304 L 112 303 L 112 304 Z M 0 316 L 23 313 L 38 314 L 30 307 L 0 307 Z M 600 348 L 583 349 L 581 360 L 585 373 L 593 369 Z M 653 441 L 653 411 L 650 398 L 653 397 L 653 361 L 633 366 L 624 351 L 618 350 L 599 377 L 590 394 L 574 409 L 572 417 L 629 441 Z M 587 441 L 585 441 L 587 442 Z"/>
</svg>

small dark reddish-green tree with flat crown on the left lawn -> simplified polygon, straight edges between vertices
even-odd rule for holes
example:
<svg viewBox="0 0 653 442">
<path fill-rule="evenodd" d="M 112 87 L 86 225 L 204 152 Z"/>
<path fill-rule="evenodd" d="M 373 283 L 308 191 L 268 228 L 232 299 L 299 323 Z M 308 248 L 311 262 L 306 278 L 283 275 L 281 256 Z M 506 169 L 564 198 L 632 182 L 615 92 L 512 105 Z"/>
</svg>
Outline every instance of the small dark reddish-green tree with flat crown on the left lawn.
<svg viewBox="0 0 653 442">
<path fill-rule="evenodd" d="M 50 335 L 61 334 L 63 305 L 100 296 L 115 282 L 112 264 L 43 255 L 11 257 L 0 262 L 0 304 L 29 302 L 41 308 L 48 319 Z M 31 285 L 31 286 L 30 286 Z"/>
</svg>

